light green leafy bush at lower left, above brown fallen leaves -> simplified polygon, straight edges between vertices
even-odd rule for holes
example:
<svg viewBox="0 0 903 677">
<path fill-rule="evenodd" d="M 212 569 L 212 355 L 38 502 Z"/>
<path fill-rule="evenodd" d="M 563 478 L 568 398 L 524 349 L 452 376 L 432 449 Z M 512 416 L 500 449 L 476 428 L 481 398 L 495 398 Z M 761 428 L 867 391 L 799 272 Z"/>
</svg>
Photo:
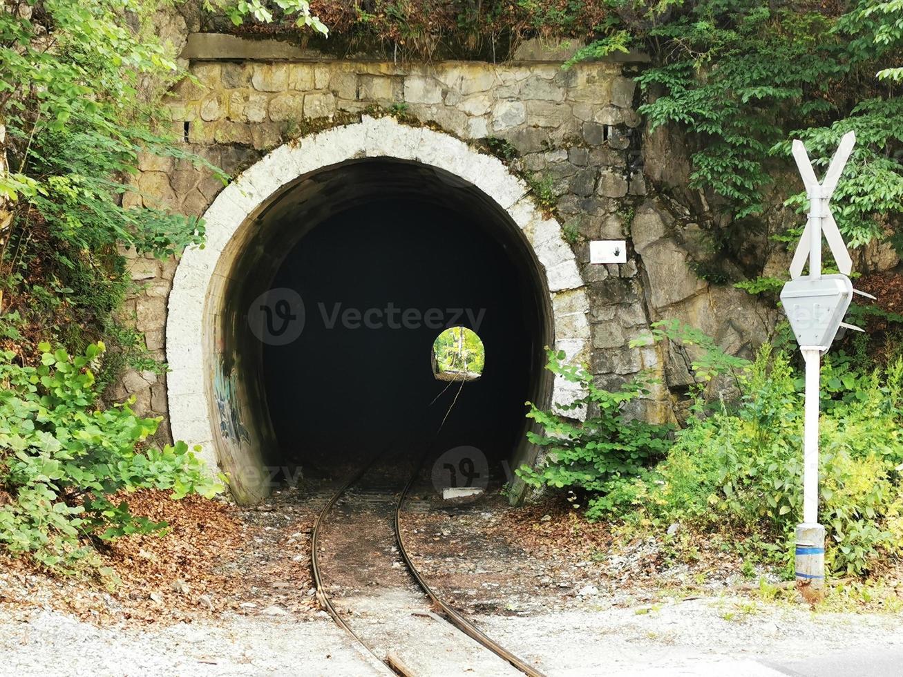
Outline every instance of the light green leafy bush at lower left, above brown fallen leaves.
<svg viewBox="0 0 903 677">
<path fill-rule="evenodd" d="M 96 539 L 147 533 L 165 524 L 128 512 L 121 491 L 172 489 L 212 496 L 207 477 L 184 442 L 144 448 L 160 419 L 140 418 L 127 405 L 97 409 L 94 374 L 103 344 L 70 357 L 41 345 L 40 366 L 0 352 L 0 543 L 69 569 Z"/>
</svg>

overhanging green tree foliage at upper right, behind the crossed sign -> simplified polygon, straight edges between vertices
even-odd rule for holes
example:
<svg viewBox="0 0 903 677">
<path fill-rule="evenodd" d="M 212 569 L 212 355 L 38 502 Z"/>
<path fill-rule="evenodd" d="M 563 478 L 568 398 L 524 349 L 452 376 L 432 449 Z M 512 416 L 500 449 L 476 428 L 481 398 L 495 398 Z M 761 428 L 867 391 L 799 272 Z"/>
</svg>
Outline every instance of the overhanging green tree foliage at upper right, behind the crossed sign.
<svg viewBox="0 0 903 677">
<path fill-rule="evenodd" d="M 853 246 L 893 236 L 888 226 L 903 215 L 903 99 L 895 86 L 903 68 L 889 64 L 903 48 L 900 0 L 612 7 L 596 26 L 599 40 L 572 61 L 628 44 L 652 54 L 652 68 L 638 77 L 649 97 L 640 112 L 653 128 L 689 132 L 691 187 L 709 204 L 733 220 L 755 218 L 774 172 L 792 168 L 790 139 L 802 138 L 824 161 L 855 129 L 859 141 L 834 202 L 838 225 Z M 802 208 L 804 196 L 789 203 Z"/>
</svg>

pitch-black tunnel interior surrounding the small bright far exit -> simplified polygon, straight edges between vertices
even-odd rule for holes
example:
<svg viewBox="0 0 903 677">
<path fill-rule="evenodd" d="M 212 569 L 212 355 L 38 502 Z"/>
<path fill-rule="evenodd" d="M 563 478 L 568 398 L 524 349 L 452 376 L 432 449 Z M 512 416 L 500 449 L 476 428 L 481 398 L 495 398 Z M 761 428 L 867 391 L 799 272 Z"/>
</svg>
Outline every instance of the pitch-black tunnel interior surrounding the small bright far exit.
<svg viewBox="0 0 903 677">
<path fill-rule="evenodd" d="M 469 445 L 498 465 L 524 437 L 544 339 L 531 262 L 485 210 L 429 198 L 342 210 L 285 255 L 271 286 L 301 295 L 304 328 L 264 348 L 269 462 L 325 469 Z M 457 325 L 483 342 L 479 380 L 433 375 L 433 341 Z"/>
</svg>

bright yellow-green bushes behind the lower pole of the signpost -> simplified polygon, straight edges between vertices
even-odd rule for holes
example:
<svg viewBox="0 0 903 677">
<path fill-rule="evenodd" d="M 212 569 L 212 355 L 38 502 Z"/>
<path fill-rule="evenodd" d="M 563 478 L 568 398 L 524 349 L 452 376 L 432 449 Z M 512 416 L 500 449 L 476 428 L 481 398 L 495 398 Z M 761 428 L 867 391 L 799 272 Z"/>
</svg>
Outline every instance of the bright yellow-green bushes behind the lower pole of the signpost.
<svg viewBox="0 0 903 677">
<path fill-rule="evenodd" d="M 820 517 L 826 561 L 862 574 L 903 554 L 903 361 L 824 369 Z M 756 539 L 756 555 L 783 566 L 802 510 L 803 380 L 763 346 L 740 379 L 741 397 L 678 431 L 667 458 L 608 496 L 606 515 Z"/>
</svg>

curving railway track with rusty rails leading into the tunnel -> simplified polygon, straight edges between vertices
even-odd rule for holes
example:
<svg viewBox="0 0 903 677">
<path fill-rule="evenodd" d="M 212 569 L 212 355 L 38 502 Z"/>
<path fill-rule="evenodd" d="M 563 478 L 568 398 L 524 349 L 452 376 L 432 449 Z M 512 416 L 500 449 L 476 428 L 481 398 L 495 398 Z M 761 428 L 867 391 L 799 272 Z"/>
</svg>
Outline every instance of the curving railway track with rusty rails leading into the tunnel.
<svg viewBox="0 0 903 677">
<path fill-rule="evenodd" d="M 400 515 L 419 470 L 404 457 L 377 457 L 330 496 L 311 543 L 321 607 L 385 674 L 543 677 L 439 598 L 414 566 Z"/>
</svg>

